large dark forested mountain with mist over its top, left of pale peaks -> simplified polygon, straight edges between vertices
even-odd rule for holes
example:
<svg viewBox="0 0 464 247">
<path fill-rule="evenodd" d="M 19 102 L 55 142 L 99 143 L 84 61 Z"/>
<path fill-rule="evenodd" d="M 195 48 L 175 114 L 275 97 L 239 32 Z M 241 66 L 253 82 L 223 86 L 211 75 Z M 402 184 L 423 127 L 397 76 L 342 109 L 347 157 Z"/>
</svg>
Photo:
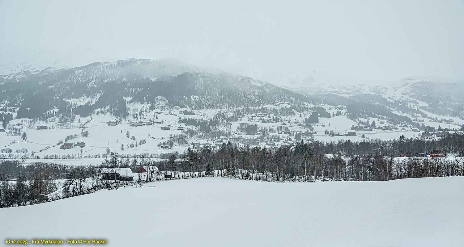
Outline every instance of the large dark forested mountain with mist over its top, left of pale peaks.
<svg viewBox="0 0 464 247">
<path fill-rule="evenodd" d="M 315 102 L 312 97 L 250 77 L 206 72 L 170 60 L 92 63 L 37 74 L 21 72 L 3 76 L 2 80 L 3 110 L 17 111 L 17 118 L 60 113 L 85 116 L 108 106 L 115 116 L 125 117 L 127 102 L 156 104 L 157 96 L 168 99 L 168 107 L 194 109 L 258 107 L 276 101 L 297 105 Z M 96 100 L 80 106 L 65 100 L 83 95 Z"/>
</svg>

